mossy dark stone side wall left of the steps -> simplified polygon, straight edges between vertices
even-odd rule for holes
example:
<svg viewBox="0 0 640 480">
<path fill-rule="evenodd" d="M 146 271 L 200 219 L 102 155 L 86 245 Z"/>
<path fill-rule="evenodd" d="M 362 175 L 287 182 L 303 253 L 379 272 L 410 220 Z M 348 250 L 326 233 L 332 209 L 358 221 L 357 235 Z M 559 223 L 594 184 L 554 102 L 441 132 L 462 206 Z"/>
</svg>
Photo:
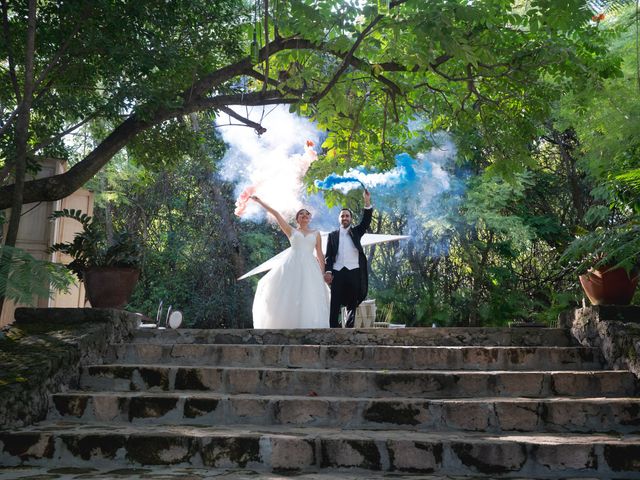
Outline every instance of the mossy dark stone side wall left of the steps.
<svg viewBox="0 0 640 480">
<path fill-rule="evenodd" d="M 45 418 L 50 394 L 76 388 L 81 367 L 102 363 L 138 318 L 111 309 L 16 310 L 15 322 L 0 331 L 0 429 Z"/>
</svg>

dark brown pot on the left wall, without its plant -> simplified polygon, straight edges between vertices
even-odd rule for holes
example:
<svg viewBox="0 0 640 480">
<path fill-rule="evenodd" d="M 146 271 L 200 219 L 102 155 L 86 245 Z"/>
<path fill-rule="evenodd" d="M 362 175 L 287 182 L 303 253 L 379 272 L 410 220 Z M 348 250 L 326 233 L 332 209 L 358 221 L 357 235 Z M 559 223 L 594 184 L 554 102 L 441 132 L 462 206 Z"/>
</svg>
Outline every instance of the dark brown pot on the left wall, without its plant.
<svg viewBox="0 0 640 480">
<path fill-rule="evenodd" d="M 140 270 L 131 267 L 93 267 L 83 274 L 87 297 L 94 308 L 122 308 L 131 298 Z"/>
</svg>

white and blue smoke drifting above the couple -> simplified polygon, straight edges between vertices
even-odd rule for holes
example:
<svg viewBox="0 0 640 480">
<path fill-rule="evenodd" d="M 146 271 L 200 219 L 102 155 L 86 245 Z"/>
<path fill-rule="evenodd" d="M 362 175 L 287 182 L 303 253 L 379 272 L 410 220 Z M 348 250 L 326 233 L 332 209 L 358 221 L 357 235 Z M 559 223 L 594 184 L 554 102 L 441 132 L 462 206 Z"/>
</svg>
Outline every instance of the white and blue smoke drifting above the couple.
<svg viewBox="0 0 640 480">
<path fill-rule="evenodd" d="M 311 140 L 319 151 L 324 133 L 309 120 L 289 113 L 286 107 L 264 111 L 262 107 L 236 112 L 267 131 L 258 136 L 243 126 L 224 126 L 229 123 L 225 115 L 218 118 L 218 130 L 228 146 L 222 161 L 221 176 L 236 185 L 236 197 L 247 187 L 254 186 L 255 194 L 292 220 L 296 211 L 307 208 L 313 214 L 312 227 L 330 231 L 338 226 L 339 208 L 328 209 L 322 193 L 307 196 L 302 177 L 312 160 L 305 155 L 305 143 Z M 264 119 L 261 117 L 265 114 Z M 233 120 L 232 123 L 237 123 Z M 338 175 L 357 177 L 371 191 L 374 208 L 407 217 L 405 234 L 420 238 L 432 230 L 432 225 L 456 208 L 464 191 L 464 182 L 451 176 L 456 148 L 444 134 L 433 136 L 436 144 L 431 150 L 415 157 L 400 154 L 397 166 L 387 172 L 365 172 L 355 168 Z M 320 179 L 317 179 L 320 180 Z M 360 188 L 359 184 L 350 188 Z M 442 194 L 447 192 L 447 200 Z M 263 221 L 264 210 L 254 202 L 247 202 L 243 220 Z M 268 216 L 270 217 L 270 216 Z M 271 220 L 271 219 L 270 219 Z"/>
</svg>

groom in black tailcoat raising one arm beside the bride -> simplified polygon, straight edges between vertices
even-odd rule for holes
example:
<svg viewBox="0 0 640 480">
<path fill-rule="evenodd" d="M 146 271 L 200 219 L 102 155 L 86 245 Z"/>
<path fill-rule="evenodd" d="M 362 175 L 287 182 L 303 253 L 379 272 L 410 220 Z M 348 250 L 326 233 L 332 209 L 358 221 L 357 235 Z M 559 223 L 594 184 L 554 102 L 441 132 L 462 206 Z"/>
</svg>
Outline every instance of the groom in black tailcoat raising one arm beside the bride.
<svg viewBox="0 0 640 480">
<path fill-rule="evenodd" d="M 367 297 L 369 279 L 367 257 L 364 255 L 360 239 L 371 225 L 371 194 L 365 189 L 362 221 L 351 226 L 352 213 L 348 208 L 340 210 L 340 228 L 329 234 L 325 257 L 324 280 L 331 286 L 331 306 L 329 326 L 339 328 L 340 307 L 347 307 L 346 326 L 353 328 L 356 309 Z"/>
</svg>

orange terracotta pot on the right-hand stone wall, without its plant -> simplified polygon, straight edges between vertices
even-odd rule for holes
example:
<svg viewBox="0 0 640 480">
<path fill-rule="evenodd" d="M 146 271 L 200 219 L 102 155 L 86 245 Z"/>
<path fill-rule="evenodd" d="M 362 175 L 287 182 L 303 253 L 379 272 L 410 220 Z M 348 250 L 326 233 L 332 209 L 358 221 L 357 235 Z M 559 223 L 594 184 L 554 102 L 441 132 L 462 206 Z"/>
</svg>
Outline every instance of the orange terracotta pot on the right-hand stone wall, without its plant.
<svg viewBox="0 0 640 480">
<path fill-rule="evenodd" d="M 580 275 L 580 284 L 593 305 L 629 305 L 639 275 L 630 277 L 624 268 L 592 270 Z"/>
</svg>

